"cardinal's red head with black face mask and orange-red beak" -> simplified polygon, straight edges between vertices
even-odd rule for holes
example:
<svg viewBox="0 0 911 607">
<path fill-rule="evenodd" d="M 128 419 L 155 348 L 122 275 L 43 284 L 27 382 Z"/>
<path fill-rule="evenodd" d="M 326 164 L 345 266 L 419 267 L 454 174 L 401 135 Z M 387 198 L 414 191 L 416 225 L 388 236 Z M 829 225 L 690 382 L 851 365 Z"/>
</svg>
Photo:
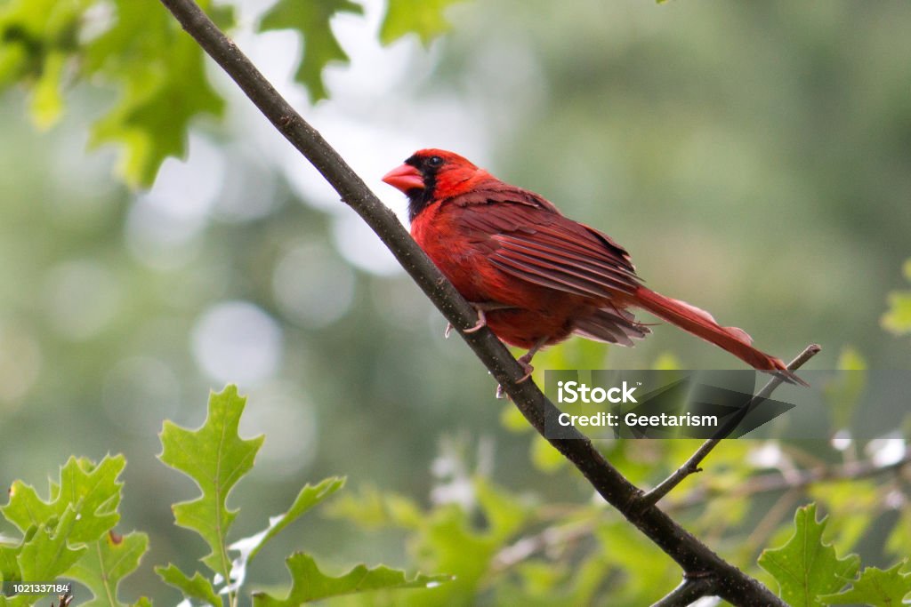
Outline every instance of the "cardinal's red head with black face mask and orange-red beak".
<svg viewBox="0 0 911 607">
<path fill-rule="evenodd" d="M 463 194 L 490 175 L 466 158 L 443 149 L 422 149 L 383 177 L 384 182 L 408 197 L 408 218 L 436 200 Z"/>
</svg>

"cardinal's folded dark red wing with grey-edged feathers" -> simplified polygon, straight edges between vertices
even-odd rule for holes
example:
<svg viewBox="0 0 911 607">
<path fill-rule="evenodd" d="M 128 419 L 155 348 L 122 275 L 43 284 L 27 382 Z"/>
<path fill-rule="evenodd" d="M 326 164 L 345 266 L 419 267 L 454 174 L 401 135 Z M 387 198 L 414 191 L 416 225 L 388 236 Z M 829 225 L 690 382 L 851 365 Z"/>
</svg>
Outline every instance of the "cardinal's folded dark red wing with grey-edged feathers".
<svg viewBox="0 0 911 607">
<path fill-rule="evenodd" d="M 478 193 L 479 194 L 479 193 Z M 630 256 L 606 235 L 565 218 L 525 190 L 458 201 L 461 225 L 489 261 L 534 284 L 591 298 L 631 295 L 640 286 Z"/>
</svg>

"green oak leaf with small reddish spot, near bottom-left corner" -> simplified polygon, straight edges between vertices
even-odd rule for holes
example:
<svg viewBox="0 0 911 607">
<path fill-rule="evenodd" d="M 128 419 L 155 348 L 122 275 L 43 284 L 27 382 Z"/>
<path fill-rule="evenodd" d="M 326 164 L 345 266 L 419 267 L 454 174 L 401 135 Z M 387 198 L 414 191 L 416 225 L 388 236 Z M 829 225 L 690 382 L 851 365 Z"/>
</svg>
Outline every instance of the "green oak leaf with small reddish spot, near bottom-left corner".
<svg viewBox="0 0 911 607">
<path fill-rule="evenodd" d="M 139 567 L 142 555 L 148 550 L 148 535 L 133 531 L 118 535 L 108 531 L 100 540 L 88 546 L 88 551 L 66 573 L 87 586 L 95 598 L 80 603 L 83 607 L 120 607 L 120 581 Z"/>
</svg>

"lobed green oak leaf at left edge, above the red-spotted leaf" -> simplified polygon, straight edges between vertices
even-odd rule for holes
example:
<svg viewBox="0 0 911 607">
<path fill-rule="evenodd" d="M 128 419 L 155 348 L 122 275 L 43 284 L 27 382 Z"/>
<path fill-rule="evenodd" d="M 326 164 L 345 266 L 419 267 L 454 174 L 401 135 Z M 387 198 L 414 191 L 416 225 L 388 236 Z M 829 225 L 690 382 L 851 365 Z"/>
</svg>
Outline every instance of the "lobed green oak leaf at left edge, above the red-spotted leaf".
<svg viewBox="0 0 911 607">
<path fill-rule="evenodd" d="M 122 455 L 108 455 L 97 466 L 87 459 L 70 457 L 60 469 L 59 484 L 51 486 L 50 501 L 39 498 L 31 485 L 15 481 L 9 491 L 9 502 L 0 511 L 25 533 L 33 526 L 42 527 L 63 517 L 70 510 L 76 520 L 68 541 L 97 541 L 120 519 L 117 508 L 123 483 L 118 482 L 118 476 L 126 465 Z"/>
</svg>

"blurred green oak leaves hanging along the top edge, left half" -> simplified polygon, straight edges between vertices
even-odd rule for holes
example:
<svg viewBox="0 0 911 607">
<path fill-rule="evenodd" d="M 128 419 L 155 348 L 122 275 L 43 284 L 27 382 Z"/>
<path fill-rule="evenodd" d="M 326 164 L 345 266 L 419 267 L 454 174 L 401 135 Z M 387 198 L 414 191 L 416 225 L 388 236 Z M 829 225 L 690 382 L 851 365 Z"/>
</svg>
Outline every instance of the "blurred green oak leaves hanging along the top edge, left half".
<svg viewBox="0 0 911 607">
<path fill-rule="evenodd" d="M 392 0 L 380 39 L 391 44 L 412 33 L 428 43 L 445 31 L 443 12 L 454 0 Z M 239 26 L 233 5 L 200 0 L 223 30 Z M 347 63 L 333 32 L 338 15 L 362 15 L 352 0 L 280 0 L 256 30 L 292 30 L 302 38 L 295 80 L 313 101 L 328 96 L 327 66 Z M 25 86 L 36 126 L 53 126 L 65 113 L 64 92 L 80 83 L 117 91 L 117 100 L 92 126 L 92 146 L 122 148 L 121 176 L 148 187 L 161 163 L 187 152 L 189 126 L 221 116 L 224 99 L 211 86 L 204 54 L 158 2 L 133 0 L 9 0 L 0 5 L 0 91 Z"/>
</svg>

